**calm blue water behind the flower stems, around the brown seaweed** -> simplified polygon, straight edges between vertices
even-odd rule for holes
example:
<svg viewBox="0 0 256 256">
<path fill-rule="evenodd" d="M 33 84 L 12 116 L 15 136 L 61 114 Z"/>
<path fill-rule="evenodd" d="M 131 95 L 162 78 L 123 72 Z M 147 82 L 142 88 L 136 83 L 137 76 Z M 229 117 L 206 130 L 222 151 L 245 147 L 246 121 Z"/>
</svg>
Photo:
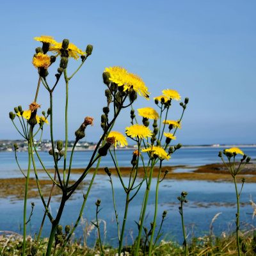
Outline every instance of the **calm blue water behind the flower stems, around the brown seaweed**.
<svg viewBox="0 0 256 256">
<path fill-rule="evenodd" d="M 256 148 L 242 148 L 248 156 L 252 159 L 256 158 Z M 168 165 L 189 165 L 198 166 L 202 164 L 216 163 L 219 161 L 218 152 L 221 148 L 181 148 L 177 154 L 173 154 L 172 159 L 166 162 Z M 74 167 L 84 167 L 86 161 L 90 158 L 92 152 L 76 152 L 74 157 Z M 14 154 L 12 152 L 0 153 L 0 178 L 4 177 L 18 177 L 20 175 L 15 164 Z M 120 166 L 130 166 L 132 150 L 120 150 L 117 152 L 118 161 Z M 47 167 L 52 167 L 51 157 L 43 152 L 41 154 L 42 159 Z M 20 164 L 26 168 L 26 152 L 19 153 Z M 101 161 L 101 166 L 113 166 L 110 157 L 104 157 Z M 38 168 L 39 168 L 38 164 Z M 77 175 L 73 175 L 72 179 L 76 179 Z M 90 175 L 86 177 L 86 180 L 90 180 Z M 125 179 L 125 182 L 128 180 Z M 154 182 L 156 182 L 154 180 Z M 152 184 L 151 195 L 149 196 L 147 219 L 145 225 L 150 226 L 150 222 L 153 219 L 154 214 L 154 187 Z M 125 193 L 120 186 L 120 181 L 117 177 L 113 177 L 113 184 L 115 187 L 116 204 L 118 209 L 118 216 L 120 222 L 122 222 L 122 215 L 124 210 L 124 198 Z M 241 195 L 241 202 L 244 203 L 241 207 L 241 221 L 244 223 L 251 223 L 255 225 L 255 220 L 252 220 L 253 209 L 250 205 L 250 196 L 253 201 L 256 201 L 256 185 L 245 184 L 244 190 Z M 145 189 L 145 188 L 143 188 Z M 143 191 L 143 189 L 141 189 Z M 232 183 L 225 182 L 204 182 L 204 181 L 177 181 L 177 180 L 164 180 L 161 183 L 159 192 L 159 221 L 161 220 L 161 214 L 164 210 L 168 211 L 168 217 L 166 218 L 163 233 L 168 237 L 172 237 L 177 241 L 181 241 L 181 228 L 180 228 L 180 216 L 178 210 L 177 196 L 180 195 L 182 190 L 188 191 L 188 204 L 185 206 L 185 222 L 188 227 L 189 237 L 192 234 L 204 235 L 209 232 L 209 225 L 213 216 L 222 212 L 218 219 L 214 223 L 214 232 L 220 234 L 223 231 L 234 230 L 234 220 L 236 213 L 236 198 L 234 185 Z M 86 191 L 86 185 L 84 185 L 83 191 Z M 90 223 L 95 218 L 95 201 L 100 198 L 102 201 L 99 218 L 106 221 L 106 230 L 108 243 L 113 245 L 117 244 L 117 233 L 115 225 L 115 215 L 113 212 L 113 202 L 111 197 L 111 189 L 107 175 L 97 175 L 95 184 L 93 185 L 91 194 L 88 198 L 86 208 L 84 210 L 84 219 Z M 140 214 L 141 202 L 143 199 L 143 193 L 138 193 L 138 196 L 131 202 L 130 211 L 127 218 L 127 237 L 125 243 L 131 243 L 132 238 L 136 237 L 137 228 L 134 221 L 138 220 Z M 31 202 L 32 200 L 29 200 Z M 59 198 L 56 197 L 52 201 L 51 211 L 55 214 L 58 205 Z M 40 220 L 43 214 L 43 208 L 40 200 L 33 200 L 35 202 L 35 213 L 33 214 L 30 227 L 28 228 L 31 234 L 38 232 L 37 228 L 40 225 Z M 83 193 L 78 191 L 73 196 L 70 202 L 67 202 L 65 212 L 61 220 L 63 225 L 72 225 L 76 221 L 79 208 L 83 202 Z M 0 200 L 0 230 L 13 230 L 15 232 L 20 231 L 20 225 L 22 225 L 22 202 L 13 201 L 10 199 Z M 8 216 L 8 218 L 6 218 Z M 84 224 L 85 225 L 85 224 Z M 50 223 L 45 224 L 43 235 L 49 234 Z M 103 224 L 102 224 L 103 229 Z M 79 225 L 76 230 L 76 237 L 81 237 L 83 234 L 83 227 Z M 94 230 L 88 237 L 88 243 L 93 244 L 95 240 Z"/>
</svg>

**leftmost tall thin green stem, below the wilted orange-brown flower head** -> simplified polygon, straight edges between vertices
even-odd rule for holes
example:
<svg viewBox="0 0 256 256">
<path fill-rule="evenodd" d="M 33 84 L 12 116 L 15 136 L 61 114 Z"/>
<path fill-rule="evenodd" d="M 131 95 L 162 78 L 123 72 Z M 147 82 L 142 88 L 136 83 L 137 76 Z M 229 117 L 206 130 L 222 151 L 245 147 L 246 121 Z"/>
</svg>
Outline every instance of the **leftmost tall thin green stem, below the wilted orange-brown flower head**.
<svg viewBox="0 0 256 256">
<path fill-rule="evenodd" d="M 29 184 L 30 168 L 31 168 L 31 145 L 29 145 L 29 143 L 28 143 L 28 173 L 26 176 L 25 195 L 24 195 L 22 256 L 26 255 L 26 212 L 27 212 L 28 184 Z"/>
</svg>

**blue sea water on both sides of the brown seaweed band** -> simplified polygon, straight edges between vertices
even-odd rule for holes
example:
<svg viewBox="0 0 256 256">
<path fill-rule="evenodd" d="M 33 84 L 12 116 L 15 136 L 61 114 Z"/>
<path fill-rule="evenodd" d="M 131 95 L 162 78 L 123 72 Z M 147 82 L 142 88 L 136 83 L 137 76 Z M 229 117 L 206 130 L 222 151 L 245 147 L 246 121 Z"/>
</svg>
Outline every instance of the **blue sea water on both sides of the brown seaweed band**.
<svg viewBox="0 0 256 256">
<path fill-rule="evenodd" d="M 240 147 L 244 153 L 252 157 L 252 161 L 256 161 L 256 147 Z M 196 166 L 204 164 L 220 163 L 218 152 L 223 150 L 222 147 L 184 147 L 180 148 L 172 155 L 169 161 L 165 161 L 166 166 L 179 166 L 175 172 L 193 172 Z M 27 152 L 18 152 L 18 159 L 21 168 L 26 170 Z M 68 152 L 68 157 L 70 152 Z M 77 151 L 74 154 L 73 168 L 84 168 L 90 160 L 92 151 Z M 40 152 L 40 157 L 47 168 L 53 168 L 52 156 L 47 152 Z M 67 157 L 67 159 L 68 159 Z M 131 166 L 132 150 L 116 150 L 116 157 L 119 166 Z M 35 156 L 36 158 L 36 156 Z M 147 157 L 146 157 L 147 158 Z M 146 159 L 147 160 L 147 159 Z M 38 169 L 42 169 L 40 163 L 36 161 Z M 109 155 L 102 157 L 101 167 L 113 167 L 113 161 Z M 171 173 L 169 175 L 172 175 Z M 205 174 L 207 175 L 207 174 Z M 46 178 L 44 172 L 40 172 L 40 176 Z M 14 152 L 0 152 L 0 179 L 22 177 L 22 174 L 15 162 Z M 33 174 L 32 174 L 33 177 Z M 70 175 L 70 179 L 76 180 L 78 173 Z M 113 187 L 115 192 L 116 209 L 118 212 L 118 220 L 122 224 L 124 218 L 125 192 L 120 184 L 118 177 L 113 176 Z M 74 225 L 77 220 L 81 205 L 83 204 L 83 193 L 86 193 L 88 182 L 92 179 L 92 174 L 88 174 L 85 178 L 83 188 L 77 191 L 65 205 L 65 210 L 61 218 L 61 225 Z M 129 182 L 124 177 L 124 182 Z M 140 182 L 140 179 L 138 179 Z M 144 184 L 145 185 L 145 184 Z M 239 187 L 241 185 L 239 184 Z M 152 181 L 150 195 L 148 199 L 147 214 L 145 218 L 145 227 L 150 229 L 150 222 L 154 218 L 154 193 L 156 192 L 156 179 Z M 140 192 L 136 195 L 129 205 L 127 216 L 124 244 L 131 244 L 138 234 L 138 226 L 136 221 L 140 216 L 141 203 L 145 186 L 141 186 Z M 194 236 L 207 236 L 209 232 L 213 232 L 216 236 L 225 236 L 235 232 L 236 220 L 236 192 L 232 182 L 212 182 L 212 181 L 196 181 L 196 180 L 172 180 L 165 179 L 159 188 L 159 207 L 157 212 L 157 228 L 161 222 L 163 211 L 168 211 L 164 220 L 161 239 L 172 239 L 178 243 L 182 243 L 182 227 L 179 214 L 179 201 L 177 196 L 182 191 L 188 192 L 188 203 L 184 205 L 184 222 L 188 239 Z M 46 195 L 47 196 L 47 195 Z M 83 218 L 77 227 L 73 239 L 81 239 L 82 243 L 93 246 L 97 238 L 97 230 L 92 222 L 95 221 L 97 199 L 101 200 L 100 204 L 100 230 L 104 243 L 117 246 L 118 233 L 115 221 L 115 211 L 113 209 L 113 199 L 111 184 L 108 175 L 97 175 L 93 183 L 90 196 L 84 208 Z M 256 217 L 254 218 L 252 201 L 256 202 L 256 184 L 246 183 L 241 193 L 241 228 L 248 230 L 255 227 Z M 35 203 L 35 209 L 28 224 L 28 234 L 32 237 L 38 234 L 38 228 L 42 221 L 44 208 L 40 199 L 29 198 L 28 209 L 31 202 Z M 55 216 L 60 204 L 60 196 L 52 198 L 50 210 Z M 15 198 L 0 198 L 0 234 L 5 231 L 12 231 L 22 234 L 22 218 L 23 218 L 23 201 Z M 28 210 L 28 215 L 29 215 Z M 218 214 L 218 218 L 212 223 L 214 216 Z M 45 221 L 42 236 L 49 236 L 51 223 Z M 157 232 L 156 228 L 156 232 Z"/>
</svg>

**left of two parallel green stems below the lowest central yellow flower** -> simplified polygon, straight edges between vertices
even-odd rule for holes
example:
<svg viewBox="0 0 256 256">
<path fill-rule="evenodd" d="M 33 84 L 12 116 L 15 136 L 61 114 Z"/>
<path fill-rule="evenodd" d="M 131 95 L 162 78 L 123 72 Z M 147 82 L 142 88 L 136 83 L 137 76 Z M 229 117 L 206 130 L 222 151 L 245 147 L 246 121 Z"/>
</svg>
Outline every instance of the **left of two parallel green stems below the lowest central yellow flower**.
<svg viewBox="0 0 256 256">
<path fill-rule="evenodd" d="M 141 239 L 141 234 L 142 234 L 142 229 L 143 229 L 143 222 L 144 222 L 144 218 L 145 218 L 145 212 L 146 212 L 146 209 L 147 209 L 148 194 L 149 194 L 149 191 L 150 191 L 150 185 L 151 185 L 151 181 L 152 181 L 153 170 L 154 170 L 154 160 L 151 163 L 147 189 L 145 191 L 145 200 L 144 200 L 144 204 L 141 207 L 141 212 L 142 213 L 141 213 L 141 218 L 140 218 L 140 228 L 139 228 L 139 234 L 138 234 L 138 238 L 137 238 L 137 244 L 136 244 L 136 249 L 135 249 L 134 256 L 138 256 L 138 253 L 139 253 L 139 250 L 140 250 L 140 239 Z"/>
</svg>

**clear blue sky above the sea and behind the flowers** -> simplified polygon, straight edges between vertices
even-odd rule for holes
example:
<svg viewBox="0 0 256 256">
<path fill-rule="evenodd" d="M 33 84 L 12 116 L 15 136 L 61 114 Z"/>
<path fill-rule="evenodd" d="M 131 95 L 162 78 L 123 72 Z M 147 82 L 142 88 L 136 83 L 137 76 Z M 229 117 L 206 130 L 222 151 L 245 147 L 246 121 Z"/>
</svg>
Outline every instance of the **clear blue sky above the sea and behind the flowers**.
<svg viewBox="0 0 256 256">
<path fill-rule="evenodd" d="M 3 1 L 0 139 L 20 138 L 8 113 L 33 101 L 38 74 L 31 60 L 40 45 L 33 37 L 52 35 L 57 41 L 69 38 L 81 49 L 94 47 L 70 83 L 70 140 L 84 116 L 95 118 L 86 140 L 100 137 L 102 71 L 120 65 L 140 75 L 152 97 L 166 88 L 189 97 L 177 142 L 256 143 L 255 10 L 254 0 Z M 73 61 L 69 72 L 78 64 Z M 61 80 L 54 92 L 56 140 L 64 138 L 64 86 Z M 38 103 L 49 107 L 45 90 Z M 175 105 L 170 119 L 181 111 Z M 143 106 L 154 107 L 154 100 L 140 98 L 135 107 Z M 115 130 L 127 125 L 129 113 L 124 113 Z"/>
</svg>

